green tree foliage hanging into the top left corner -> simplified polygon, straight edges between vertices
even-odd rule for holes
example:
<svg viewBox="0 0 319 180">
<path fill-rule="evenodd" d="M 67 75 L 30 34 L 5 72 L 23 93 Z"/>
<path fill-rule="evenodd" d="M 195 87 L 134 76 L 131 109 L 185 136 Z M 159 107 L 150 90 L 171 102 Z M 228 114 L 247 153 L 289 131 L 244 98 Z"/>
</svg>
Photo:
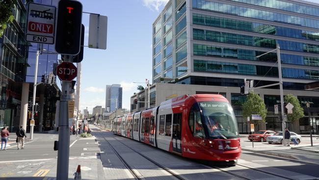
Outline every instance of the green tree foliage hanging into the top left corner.
<svg viewBox="0 0 319 180">
<path fill-rule="evenodd" d="M 7 24 L 12 22 L 12 8 L 17 4 L 17 0 L 0 0 L 0 37 L 3 35 Z"/>
</svg>

